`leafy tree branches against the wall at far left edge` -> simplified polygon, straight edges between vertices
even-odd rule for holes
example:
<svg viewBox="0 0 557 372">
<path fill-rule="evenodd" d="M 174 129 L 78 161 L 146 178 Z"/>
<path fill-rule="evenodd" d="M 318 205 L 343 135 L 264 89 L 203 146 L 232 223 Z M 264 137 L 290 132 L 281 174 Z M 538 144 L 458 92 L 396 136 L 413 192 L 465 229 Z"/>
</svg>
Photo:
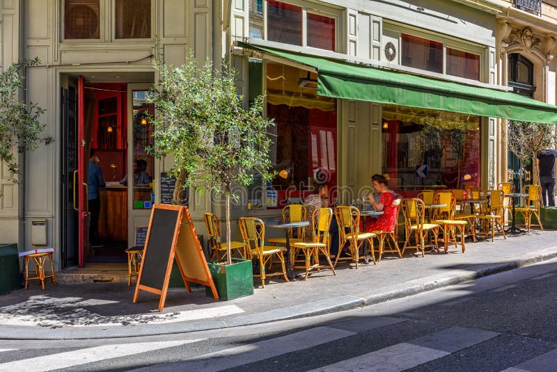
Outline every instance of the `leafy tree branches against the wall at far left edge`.
<svg viewBox="0 0 557 372">
<path fill-rule="evenodd" d="M 38 63 L 38 58 L 27 59 L 12 63 L 0 72 L 0 162 L 8 168 L 9 179 L 13 182 L 18 181 L 19 175 L 17 154 L 33 151 L 42 141 L 51 141 L 40 137 L 45 126 L 38 118 L 45 110 L 18 96 L 24 88 L 24 70 Z"/>
</svg>

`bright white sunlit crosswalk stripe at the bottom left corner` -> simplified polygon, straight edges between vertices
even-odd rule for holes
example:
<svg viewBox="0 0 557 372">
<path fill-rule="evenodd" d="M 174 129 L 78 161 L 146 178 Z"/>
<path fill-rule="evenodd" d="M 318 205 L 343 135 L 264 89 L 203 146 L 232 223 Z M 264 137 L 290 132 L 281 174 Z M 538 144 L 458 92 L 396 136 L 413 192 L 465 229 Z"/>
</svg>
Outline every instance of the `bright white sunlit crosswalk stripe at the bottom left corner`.
<svg viewBox="0 0 557 372">
<path fill-rule="evenodd" d="M 96 346 L 94 348 L 85 348 L 79 350 L 68 351 L 65 353 L 57 353 L 44 355 L 42 357 L 34 357 L 30 359 L 22 359 L 14 362 L 0 364 L 0 371 L 52 371 L 54 369 L 67 369 L 80 364 L 92 362 L 100 362 L 105 359 L 113 359 L 117 357 L 125 357 L 139 353 L 146 353 L 152 350 L 162 348 L 171 348 L 186 343 L 192 343 L 198 340 L 180 340 L 180 341 L 159 341 L 144 343 L 120 343 L 113 345 Z"/>
</svg>

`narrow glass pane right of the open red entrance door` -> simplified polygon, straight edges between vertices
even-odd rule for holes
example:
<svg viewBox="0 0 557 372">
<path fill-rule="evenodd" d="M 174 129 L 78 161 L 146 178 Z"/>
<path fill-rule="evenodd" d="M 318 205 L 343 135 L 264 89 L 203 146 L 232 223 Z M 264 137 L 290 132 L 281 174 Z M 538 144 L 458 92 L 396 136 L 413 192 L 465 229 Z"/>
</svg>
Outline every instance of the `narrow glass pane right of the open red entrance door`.
<svg viewBox="0 0 557 372">
<path fill-rule="evenodd" d="M 133 154 L 134 163 L 131 172 L 120 181 L 121 184 L 134 185 L 134 209 L 150 208 L 155 201 L 152 179 L 155 176 L 152 156 L 147 154 L 146 148 L 152 146 L 152 125 L 148 118 L 153 115 L 152 104 L 146 101 L 146 91 L 133 93 Z"/>
</svg>

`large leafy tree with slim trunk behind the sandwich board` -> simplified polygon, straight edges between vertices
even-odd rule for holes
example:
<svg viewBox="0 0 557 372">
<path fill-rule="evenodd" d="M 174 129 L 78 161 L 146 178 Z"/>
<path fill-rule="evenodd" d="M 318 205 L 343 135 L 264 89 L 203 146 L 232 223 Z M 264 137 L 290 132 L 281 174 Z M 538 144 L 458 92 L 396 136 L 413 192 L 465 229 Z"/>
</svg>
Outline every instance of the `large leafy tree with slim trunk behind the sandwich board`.
<svg viewBox="0 0 557 372">
<path fill-rule="evenodd" d="M 207 62 L 198 69 L 190 56 L 184 65 L 175 68 L 157 58 L 155 68 L 160 78 L 150 95 L 157 115 L 152 119 L 155 146 L 149 151 L 157 157 L 174 157 L 174 202 L 187 186 L 224 197 L 227 264 L 231 264 L 233 186 L 249 186 L 256 174 L 264 180 L 271 179 L 267 127 L 273 122 L 262 117 L 262 97 L 249 109 L 242 107 L 244 99 L 237 92 L 235 73 L 230 67 L 214 72 L 212 63 Z"/>
</svg>

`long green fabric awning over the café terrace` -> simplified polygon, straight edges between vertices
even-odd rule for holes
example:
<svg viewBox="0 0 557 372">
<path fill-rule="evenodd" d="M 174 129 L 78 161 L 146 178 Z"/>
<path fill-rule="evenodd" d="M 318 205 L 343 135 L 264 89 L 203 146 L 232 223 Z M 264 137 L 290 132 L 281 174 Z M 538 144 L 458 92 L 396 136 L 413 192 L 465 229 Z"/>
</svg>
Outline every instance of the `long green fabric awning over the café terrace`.
<svg viewBox="0 0 557 372">
<path fill-rule="evenodd" d="M 317 70 L 317 95 L 526 122 L 557 123 L 557 106 L 512 92 L 238 43 Z"/>
</svg>

